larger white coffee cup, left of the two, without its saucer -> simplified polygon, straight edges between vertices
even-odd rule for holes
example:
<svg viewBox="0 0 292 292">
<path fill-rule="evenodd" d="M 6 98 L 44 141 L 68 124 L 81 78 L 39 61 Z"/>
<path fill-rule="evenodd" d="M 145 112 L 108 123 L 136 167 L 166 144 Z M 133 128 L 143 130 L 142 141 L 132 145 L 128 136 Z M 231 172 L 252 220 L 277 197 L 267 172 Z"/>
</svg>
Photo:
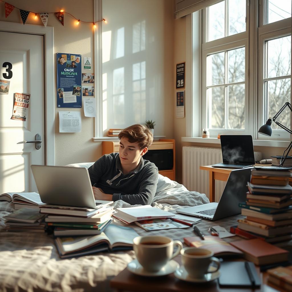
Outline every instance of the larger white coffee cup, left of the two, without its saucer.
<svg viewBox="0 0 292 292">
<path fill-rule="evenodd" d="M 165 236 L 138 236 L 134 238 L 133 243 L 138 262 L 149 272 L 161 270 L 183 248 L 180 241 Z M 175 253 L 173 253 L 174 246 L 178 246 Z"/>
</svg>

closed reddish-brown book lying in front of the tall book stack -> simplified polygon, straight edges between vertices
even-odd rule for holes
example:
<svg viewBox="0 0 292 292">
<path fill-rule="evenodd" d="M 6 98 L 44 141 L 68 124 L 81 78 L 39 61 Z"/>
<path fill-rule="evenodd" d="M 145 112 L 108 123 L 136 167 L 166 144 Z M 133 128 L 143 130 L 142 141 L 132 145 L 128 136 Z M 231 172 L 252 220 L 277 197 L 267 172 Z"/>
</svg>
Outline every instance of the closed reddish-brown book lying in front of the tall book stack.
<svg viewBox="0 0 292 292">
<path fill-rule="evenodd" d="M 237 240 L 231 245 L 244 252 L 244 257 L 256 265 L 268 265 L 288 260 L 288 251 L 261 239 Z"/>
</svg>

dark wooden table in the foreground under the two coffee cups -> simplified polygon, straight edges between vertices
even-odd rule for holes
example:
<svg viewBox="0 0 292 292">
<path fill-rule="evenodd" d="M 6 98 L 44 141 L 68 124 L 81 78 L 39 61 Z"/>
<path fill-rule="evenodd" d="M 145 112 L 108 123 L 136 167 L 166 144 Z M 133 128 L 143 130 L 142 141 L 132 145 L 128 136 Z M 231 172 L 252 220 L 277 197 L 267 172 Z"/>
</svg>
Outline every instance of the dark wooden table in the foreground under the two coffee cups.
<svg viewBox="0 0 292 292">
<path fill-rule="evenodd" d="M 180 263 L 180 258 L 175 258 Z M 257 267 L 258 273 L 259 268 Z M 267 286 L 267 273 L 260 273 L 262 285 L 259 289 L 251 288 L 220 288 L 218 281 L 212 281 L 209 283 L 190 283 L 177 279 L 174 274 L 170 274 L 162 277 L 142 277 L 132 274 L 127 270 L 120 272 L 114 279 L 110 281 L 110 286 L 115 288 L 117 292 L 122 291 L 138 291 L 138 292 L 188 292 L 188 291 L 200 291 L 200 292 L 274 292 L 284 291 L 278 290 L 276 286 Z M 270 285 L 270 284 L 269 284 Z M 272 285 L 272 284 L 271 284 Z"/>
</svg>

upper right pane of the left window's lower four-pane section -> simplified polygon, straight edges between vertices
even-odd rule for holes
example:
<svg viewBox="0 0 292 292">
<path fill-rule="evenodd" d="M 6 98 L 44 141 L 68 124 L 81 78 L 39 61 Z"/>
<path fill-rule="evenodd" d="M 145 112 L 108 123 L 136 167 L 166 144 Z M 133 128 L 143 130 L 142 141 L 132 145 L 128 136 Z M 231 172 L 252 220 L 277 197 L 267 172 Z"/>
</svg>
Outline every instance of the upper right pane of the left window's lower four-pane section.
<svg viewBox="0 0 292 292">
<path fill-rule="evenodd" d="M 245 48 L 228 51 L 228 83 L 245 80 Z"/>
</svg>

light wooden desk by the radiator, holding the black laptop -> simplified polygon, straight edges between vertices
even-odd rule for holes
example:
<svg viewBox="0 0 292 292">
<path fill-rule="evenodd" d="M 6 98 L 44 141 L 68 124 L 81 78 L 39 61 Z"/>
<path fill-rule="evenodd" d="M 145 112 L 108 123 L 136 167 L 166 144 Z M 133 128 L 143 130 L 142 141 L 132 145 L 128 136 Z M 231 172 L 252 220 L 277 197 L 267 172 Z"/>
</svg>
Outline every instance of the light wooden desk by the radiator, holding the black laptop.
<svg viewBox="0 0 292 292">
<path fill-rule="evenodd" d="M 259 164 L 256 163 L 255 166 L 271 166 L 272 164 Z M 231 171 L 238 168 L 221 168 L 212 167 L 211 165 L 200 166 L 201 170 L 209 171 L 209 199 L 210 202 L 215 202 L 215 180 L 227 181 Z"/>
</svg>

